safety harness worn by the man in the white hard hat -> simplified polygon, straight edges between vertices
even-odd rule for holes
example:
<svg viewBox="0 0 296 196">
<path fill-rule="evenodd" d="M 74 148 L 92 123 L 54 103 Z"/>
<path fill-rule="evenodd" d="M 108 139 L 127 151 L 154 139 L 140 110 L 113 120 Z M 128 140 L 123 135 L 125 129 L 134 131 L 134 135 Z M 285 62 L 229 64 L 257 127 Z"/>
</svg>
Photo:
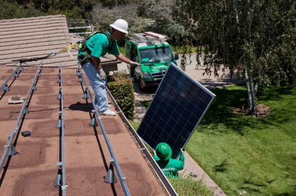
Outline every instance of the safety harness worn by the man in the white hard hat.
<svg viewBox="0 0 296 196">
<path fill-rule="evenodd" d="M 91 50 L 89 50 L 89 48 L 87 48 L 86 42 L 89 40 L 90 37 L 92 37 L 93 35 L 98 34 L 98 33 L 103 33 L 108 37 L 109 45 L 107 47 L 107 50 L 111 50 L 111 48 L 114 44 L 114 41 L 111 44 L 111 36 L 107 31 L 98 31 L 98 32 L 95 32 L 95 33 L 92 33 L 89 35 L 85 35 L 84 40 L 81 43 L 79 43 L 79 45 L 78 45 L 78 48 L 81 49 L 85 54 L 84 56 L 79 56 L 79 58 L 82 59 L 80 62 L 78 62 L 79 64 L 83 65 L 84 63 L 86 63 L 88 61 L 92 62 Z"/>
</svg>

